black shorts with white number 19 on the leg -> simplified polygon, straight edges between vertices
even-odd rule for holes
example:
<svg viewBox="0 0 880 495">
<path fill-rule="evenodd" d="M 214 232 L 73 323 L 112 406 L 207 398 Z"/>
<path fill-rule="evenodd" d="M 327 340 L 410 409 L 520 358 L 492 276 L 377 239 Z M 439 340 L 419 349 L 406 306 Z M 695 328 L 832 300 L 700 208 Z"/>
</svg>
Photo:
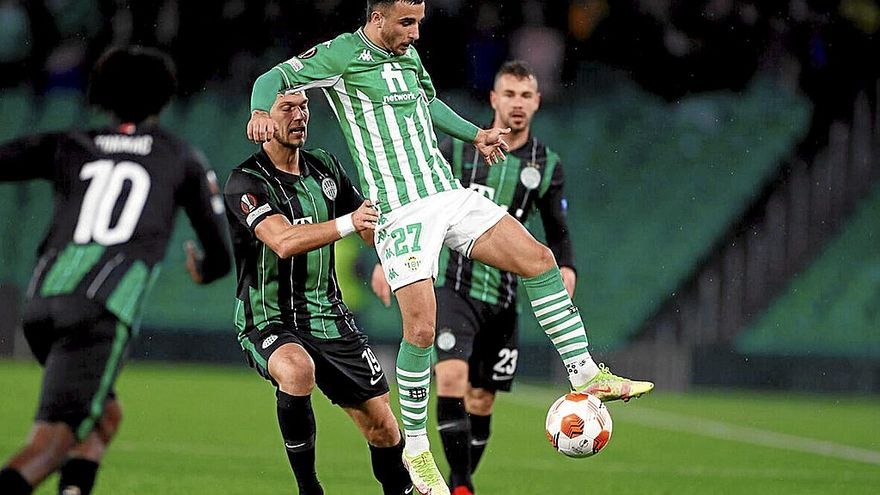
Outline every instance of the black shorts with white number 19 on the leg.
<svg viewBox="0 0 880 495">
<path fill-rule="evenodd" d="M 359 331 L 335 339 L 319 339 L 294 333 L 282 325 L 269 325 L 239 337 L 248 364 L 263 378 L 278 384 L 269 375 L 268 362 L 284 344 L 299 344 L 315 362 L 315 383 L 331 402 L 342 407 L 357 406 L 388 392 L 385 371 Z"/>
</svg>

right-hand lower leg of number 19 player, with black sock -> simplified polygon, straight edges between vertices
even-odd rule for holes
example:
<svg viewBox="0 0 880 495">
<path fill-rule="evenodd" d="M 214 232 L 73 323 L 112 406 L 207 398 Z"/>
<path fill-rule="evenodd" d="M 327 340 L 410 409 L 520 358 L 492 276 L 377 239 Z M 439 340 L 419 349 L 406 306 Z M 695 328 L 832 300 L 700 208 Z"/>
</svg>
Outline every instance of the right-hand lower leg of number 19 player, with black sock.
<svg viewBox="0 0 880 495">
<path fill-rule="evenodd" d="M 388 394 L 373 397 L 345 412 L 354 420 L 370 445 L 373 475 L 382 485 L 384 495 L 412 493 L 409 473 L 403 466 L 403 435 L 391 412 Z M 407 491 L 410 490 L 410 491 Z"/>
</svg>

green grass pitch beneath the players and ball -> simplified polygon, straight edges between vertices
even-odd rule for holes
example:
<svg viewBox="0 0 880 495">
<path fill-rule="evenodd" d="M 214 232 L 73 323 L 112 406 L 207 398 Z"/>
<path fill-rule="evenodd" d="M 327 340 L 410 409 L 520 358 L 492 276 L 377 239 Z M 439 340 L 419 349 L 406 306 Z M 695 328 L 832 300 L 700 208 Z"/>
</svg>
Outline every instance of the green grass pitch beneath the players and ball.
<svg viewBox="0 0 880 495">
<path fill-rule="evenodd" d="M 35 365 L 0 361 L 3 458 L 27 435 L 39 379 Z M 126 416 L 97 494 L 295 493 L 272 389 L 249 370 L 136 364 L 118 388 Z M 561 392 L 518 385 L 501 396 L 476 477 L 481 495 L 868 494 L 880 486 L 876 398 L 656 393 L 611 404 L 611 443 L 574 460 L 553 452 L 543 433 L 546 408 Z M 322 396 L 314 403 L 327 493 L 380 493 L 353 424 Z M 872 462 L 842 458 L 848 453 Z M 54 485 L 37 493 L 52 494 Z"/>
</svg>

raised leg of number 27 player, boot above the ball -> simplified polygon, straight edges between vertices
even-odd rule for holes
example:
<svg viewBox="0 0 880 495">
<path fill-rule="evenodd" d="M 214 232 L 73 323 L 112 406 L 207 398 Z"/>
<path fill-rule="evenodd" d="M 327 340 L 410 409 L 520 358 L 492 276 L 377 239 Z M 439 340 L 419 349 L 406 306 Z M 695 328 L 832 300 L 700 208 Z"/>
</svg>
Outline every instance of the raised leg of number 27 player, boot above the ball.
<svg viewBox="0 0 880 495">
<path fill-rule="evenodd" d="M 572 389 L 611 401 L 639 397 L 654 388 L 651 382 L 618 377 L 596 365 L 588 350 L 584 323 L 565 289 L 553 253 L 513 217 L 505 215 L 480 236 L 471 257 L 522 277 L 532 311 L 562 358 Z"/>
</svg>

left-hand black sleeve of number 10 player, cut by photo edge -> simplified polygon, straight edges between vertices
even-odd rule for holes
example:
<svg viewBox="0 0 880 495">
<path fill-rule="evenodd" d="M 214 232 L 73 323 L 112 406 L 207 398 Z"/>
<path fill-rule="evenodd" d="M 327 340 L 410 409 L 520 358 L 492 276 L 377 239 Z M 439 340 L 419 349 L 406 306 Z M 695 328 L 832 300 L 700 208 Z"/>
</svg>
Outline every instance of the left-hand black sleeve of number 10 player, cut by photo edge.
<svg viewBox="0 0 880 495">
<path fill-rule="evenodd" d="M 0 181 L 55 177 L 57 134 L 40 134 L 0 145 Z"/>
</svg>

